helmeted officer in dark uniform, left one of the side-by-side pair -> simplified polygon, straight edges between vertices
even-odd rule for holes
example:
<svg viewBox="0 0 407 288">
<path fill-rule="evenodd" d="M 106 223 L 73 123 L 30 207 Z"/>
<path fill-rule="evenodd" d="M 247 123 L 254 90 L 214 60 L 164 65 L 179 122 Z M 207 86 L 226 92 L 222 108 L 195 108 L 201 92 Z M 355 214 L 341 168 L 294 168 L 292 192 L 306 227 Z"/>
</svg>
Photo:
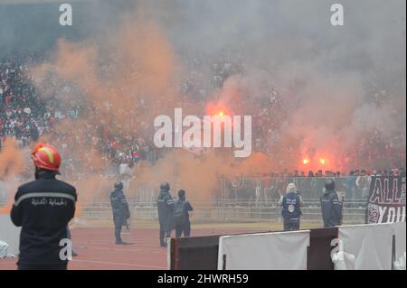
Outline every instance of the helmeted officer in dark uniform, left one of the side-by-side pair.
<svg viewBox="0 0 407 288">
<path fill-rule="evenodd" d="M 173 229 L 174 200 L 171 197 L 170 186 L 167 182 L 160 185 L 160 194 L 156 200 L 158 220 L 160 222 L 160 246 L 166 246 L 166 238 L 171 237 Z"/>
</svg>

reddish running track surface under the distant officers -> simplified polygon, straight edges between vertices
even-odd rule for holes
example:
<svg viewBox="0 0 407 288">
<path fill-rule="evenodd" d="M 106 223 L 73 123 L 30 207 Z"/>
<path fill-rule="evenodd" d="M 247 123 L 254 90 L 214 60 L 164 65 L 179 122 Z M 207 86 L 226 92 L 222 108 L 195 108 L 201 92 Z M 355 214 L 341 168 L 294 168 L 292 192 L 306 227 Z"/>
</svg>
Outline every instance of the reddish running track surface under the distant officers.
<svg viewBox="0 0 407 288">
<path fill-rule="evenodd" d="M 196 229 L 192 237 L 236 234 L 248 230 Z M 70 270 L 165 270 L 166 247 L 159 246 L 157 228 L 133 228 L 122 238 L 133 245 L 114 244 L 112 228 L 71 230 L 73 250 L 79 254 L 68 265 Z M 0 259 L 0 270 L 16 269 L 16 259 Z"/>
</svg>

